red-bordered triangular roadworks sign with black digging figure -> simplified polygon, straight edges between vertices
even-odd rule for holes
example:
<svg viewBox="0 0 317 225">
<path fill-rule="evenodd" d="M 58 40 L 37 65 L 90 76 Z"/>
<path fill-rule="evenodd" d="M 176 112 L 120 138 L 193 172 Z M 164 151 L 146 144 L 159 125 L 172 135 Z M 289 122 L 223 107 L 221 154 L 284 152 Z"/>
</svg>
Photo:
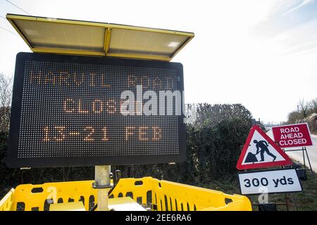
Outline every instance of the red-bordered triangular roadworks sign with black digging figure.
<svg viewBox="0 0 317 225">
<path fill-rule="evenodd" d="M 292 165 L 292 160 L 260 127 L 251 128 L 244 143 L 237 169 L 256 169 Z"/>
</svg>

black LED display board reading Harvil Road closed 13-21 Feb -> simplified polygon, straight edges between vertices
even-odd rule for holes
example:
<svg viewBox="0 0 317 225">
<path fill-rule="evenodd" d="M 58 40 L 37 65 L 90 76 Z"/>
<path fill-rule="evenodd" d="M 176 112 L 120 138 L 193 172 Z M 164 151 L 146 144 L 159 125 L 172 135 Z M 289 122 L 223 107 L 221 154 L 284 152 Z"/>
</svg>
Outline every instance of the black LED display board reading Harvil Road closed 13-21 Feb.
<svg viewBox="0 0 317 225">
<path fill-rule="evenodd" d="M 7 164 L 182 162 L 182 113 L 173 98 L 173 109 L 160 114 L 159 99 L 164 91 L 182 93 L 183 86 L 180 63 L 18 53 Z M 151 98 L 144 98 L 149 91 Z M 152 113 L 143 112 L 147 106 Z"/>
</svg>

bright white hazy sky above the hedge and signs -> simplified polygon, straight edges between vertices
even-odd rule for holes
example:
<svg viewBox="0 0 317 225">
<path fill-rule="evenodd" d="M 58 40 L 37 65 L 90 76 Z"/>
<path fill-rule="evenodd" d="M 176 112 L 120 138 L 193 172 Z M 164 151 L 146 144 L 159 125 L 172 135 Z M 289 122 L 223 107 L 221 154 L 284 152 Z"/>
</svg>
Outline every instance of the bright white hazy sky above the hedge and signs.
<svg viewBox="0 0 317 225">
<path fill-rule="evenodd" d="M 186 103 L 241 103 L 263 122 L 287 120 L 317 98 L 317 2 L 10 0 L 30 15 L 194 32 L 174 62 L 184 66 Z M 0 72 L 30 52 L 0 0 Z M 12 32 L 12 33 L 11 33 Z"/>
</svg>

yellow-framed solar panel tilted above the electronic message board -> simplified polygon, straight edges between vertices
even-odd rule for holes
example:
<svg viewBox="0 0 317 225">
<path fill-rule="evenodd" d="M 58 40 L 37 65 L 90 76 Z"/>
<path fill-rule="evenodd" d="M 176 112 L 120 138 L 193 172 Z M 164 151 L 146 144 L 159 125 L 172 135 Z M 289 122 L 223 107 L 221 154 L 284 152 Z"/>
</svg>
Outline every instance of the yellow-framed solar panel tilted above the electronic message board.
<svg viewBox="0 0 317 225">
<path fill-rule="evenodd" d="M 194 37 L 192 32 L 111 23 L 15 14 L 6 18 L 35 53 L 170 61 Z"/>
</svg>

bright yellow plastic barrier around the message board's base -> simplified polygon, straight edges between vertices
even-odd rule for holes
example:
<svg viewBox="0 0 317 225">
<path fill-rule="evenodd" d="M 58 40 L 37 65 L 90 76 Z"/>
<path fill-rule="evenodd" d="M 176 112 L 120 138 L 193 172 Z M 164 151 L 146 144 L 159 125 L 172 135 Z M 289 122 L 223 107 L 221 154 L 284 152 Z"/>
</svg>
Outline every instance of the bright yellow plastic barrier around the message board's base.
<svg viewBox="0 0 317 225">
<path fill-rule="evenodd" d="M 93 181 L 56 182 L 39 185 L 23 184 L 12 189 L 1 201 L 4 210 L 49 210 L 51 203 L 82 201 L 85 210 L 94 206 L 97 198 Z M 228 195 L 220 191 L 198 188 L 152 177 L 120 179 L 110 198 L 130 196 L 144 207 L 159 211 L 251 210 L 243 195 Z"/>
</svg>

